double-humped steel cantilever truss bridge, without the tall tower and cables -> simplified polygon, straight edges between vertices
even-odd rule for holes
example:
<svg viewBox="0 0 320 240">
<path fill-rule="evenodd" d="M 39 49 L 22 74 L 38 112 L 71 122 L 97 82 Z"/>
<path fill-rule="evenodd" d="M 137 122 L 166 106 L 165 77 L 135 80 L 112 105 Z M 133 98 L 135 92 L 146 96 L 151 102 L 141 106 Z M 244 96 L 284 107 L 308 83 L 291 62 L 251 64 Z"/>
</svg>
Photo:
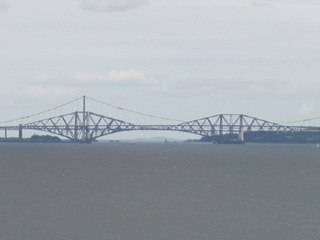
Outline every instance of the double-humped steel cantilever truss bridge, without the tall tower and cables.
<svg viewBox="0 0 320 240">
<path fill-rule="evenodd" d="M 220 114 L 176 125 L 136 125 L 93 112 L 73 113 L 20 125 L 22 129 L 45 131 L 76 142 L 93 140 L 123 131 L 180 131 L 208 137 L 218 143 L 244 141 L 244 134 L 319 131 L 318 127 L 284 126 L 242 114 Z"/>
</svg>

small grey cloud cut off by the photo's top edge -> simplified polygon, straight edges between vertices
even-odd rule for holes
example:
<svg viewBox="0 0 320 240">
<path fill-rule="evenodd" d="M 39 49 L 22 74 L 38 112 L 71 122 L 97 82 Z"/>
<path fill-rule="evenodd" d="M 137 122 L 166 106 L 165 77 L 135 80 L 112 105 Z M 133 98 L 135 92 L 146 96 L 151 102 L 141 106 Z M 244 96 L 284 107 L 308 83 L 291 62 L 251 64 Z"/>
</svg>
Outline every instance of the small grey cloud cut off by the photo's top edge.
<svg viewBox="0 0 320 240">
<path fill-rule="evenodd" d="M 82 0 L 82 9 L 97 12 L 116 12 L 136 8 L 148 3 L 148 0 Z"/>
</svg>

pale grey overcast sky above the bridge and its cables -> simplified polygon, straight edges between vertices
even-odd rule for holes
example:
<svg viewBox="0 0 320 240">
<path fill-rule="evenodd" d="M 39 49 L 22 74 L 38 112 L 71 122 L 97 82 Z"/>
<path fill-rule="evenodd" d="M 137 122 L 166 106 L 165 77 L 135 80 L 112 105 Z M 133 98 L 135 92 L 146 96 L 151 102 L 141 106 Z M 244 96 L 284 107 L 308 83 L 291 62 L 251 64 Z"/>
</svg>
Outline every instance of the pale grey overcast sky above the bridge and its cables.
<svg viewBox="0 0 320 240">
<path fill-rule="evenodd" d="M 320 116 L 318 0 L 0 0 L 4 121 L 82 95 L 193 120 Z"/>
</svg>

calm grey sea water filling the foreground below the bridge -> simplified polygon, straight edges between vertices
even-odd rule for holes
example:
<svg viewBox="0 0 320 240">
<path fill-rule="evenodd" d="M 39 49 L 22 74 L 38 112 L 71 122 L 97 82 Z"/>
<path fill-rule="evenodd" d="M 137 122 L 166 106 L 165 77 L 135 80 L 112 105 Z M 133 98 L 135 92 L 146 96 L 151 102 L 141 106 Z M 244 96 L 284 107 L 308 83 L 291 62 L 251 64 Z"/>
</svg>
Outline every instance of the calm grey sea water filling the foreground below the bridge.
<svg viewBox="0 0 320 240">
<path fill-rule="evenodd" d="M 0 144 L 1 240 L 320 239 L 313 145 Z"/>
</svg>

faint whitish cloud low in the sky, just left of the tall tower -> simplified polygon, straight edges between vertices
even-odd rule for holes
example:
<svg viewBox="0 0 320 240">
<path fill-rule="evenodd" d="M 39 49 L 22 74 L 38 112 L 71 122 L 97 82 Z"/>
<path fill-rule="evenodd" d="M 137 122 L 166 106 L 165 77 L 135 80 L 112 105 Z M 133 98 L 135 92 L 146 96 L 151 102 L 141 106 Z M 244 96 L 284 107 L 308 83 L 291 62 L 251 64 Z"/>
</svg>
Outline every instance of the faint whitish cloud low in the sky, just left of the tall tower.
<svg viewBox="0 0 320 240">
<path fill-rule="evenodd" d="M 30 99 L 54 100 L 77 93 L 75 87 L 35 85 L 23 90 L 22 95 Z"/>
</svg>

